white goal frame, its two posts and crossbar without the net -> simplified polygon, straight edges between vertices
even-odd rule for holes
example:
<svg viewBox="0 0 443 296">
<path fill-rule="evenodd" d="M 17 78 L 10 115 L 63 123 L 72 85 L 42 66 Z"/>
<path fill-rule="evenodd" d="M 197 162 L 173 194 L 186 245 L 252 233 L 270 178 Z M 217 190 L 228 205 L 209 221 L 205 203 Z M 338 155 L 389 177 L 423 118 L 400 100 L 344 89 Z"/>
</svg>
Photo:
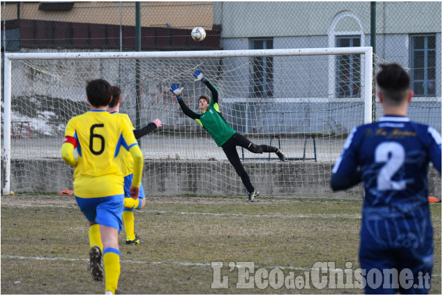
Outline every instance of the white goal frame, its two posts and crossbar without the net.
<svg viewBox="0 0 443 296">
<path fill-rule="evenodd" d="M 363 122 L 372 122 L 373 111 L 373 49 L 372 47 L 326 47 L 304 49 L 245 49 L 211 50 L 189 52 L 58 52 L 58 53 L 6 53 L 4 54 L 4 114 L 3 114 L 3 153 L 5 169 L 3 194 L 10 194 L 10 143 L 11 143 L 11 95 L 12 60 L 50 60 L 50 59 L 183 59 L 183 58 L 223 58 L 254 56 L 325 56 L 340 54 L 362 54 L 364 72 L 361 73 L 364 89 Z M 329 61 L 331 68 L 331 60 Z M 329 88 L 333 87 L 333 75 L 329 75 Z"/>
</svg>

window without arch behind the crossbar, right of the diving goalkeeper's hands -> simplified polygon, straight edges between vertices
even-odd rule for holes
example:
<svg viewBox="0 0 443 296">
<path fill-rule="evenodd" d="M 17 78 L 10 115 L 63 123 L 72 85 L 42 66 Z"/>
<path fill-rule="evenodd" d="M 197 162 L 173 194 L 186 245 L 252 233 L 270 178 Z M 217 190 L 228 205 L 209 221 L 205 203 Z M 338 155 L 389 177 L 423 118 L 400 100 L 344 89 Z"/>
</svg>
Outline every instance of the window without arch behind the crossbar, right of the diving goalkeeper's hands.
<svg viewBox="0 0 443 296">
<path fill-rule="evenodd" d="M 250 49 L 273 49 L 273 39 L 251 39 Z M 253 98 L 273 96 L 272 57 L 257 56 L 253 58 L 251 95 Z"/>
</svg>

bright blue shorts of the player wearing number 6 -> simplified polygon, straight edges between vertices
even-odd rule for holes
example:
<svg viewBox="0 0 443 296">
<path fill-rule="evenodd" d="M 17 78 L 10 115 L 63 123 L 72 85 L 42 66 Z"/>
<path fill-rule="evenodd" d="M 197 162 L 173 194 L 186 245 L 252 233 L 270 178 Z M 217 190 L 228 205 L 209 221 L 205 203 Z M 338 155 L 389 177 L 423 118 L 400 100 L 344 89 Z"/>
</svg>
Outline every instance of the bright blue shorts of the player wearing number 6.
<svg viewBox="0 0 443 296">
<path fill-rule="evenodd" d="M 81 198 L 75 196 L 77 205 L 89 222 L 115 228 L 121 231 L 123 222 L 123 194 L 105 197 Z"/>
</svg>

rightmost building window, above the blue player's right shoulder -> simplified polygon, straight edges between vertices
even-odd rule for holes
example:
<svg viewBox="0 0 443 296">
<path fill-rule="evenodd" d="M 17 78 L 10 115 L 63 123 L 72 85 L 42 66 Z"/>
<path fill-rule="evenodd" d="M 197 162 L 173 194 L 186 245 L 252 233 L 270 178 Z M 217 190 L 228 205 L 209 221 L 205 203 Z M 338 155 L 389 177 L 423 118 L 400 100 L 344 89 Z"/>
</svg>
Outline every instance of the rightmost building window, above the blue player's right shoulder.
<svg viewBox="0 0 443 296">
<path fill-rule="evenodd" d="M 435 95 L 435 34 L 411 36 L 411 82 L 414 95 Z"/>
</svg>

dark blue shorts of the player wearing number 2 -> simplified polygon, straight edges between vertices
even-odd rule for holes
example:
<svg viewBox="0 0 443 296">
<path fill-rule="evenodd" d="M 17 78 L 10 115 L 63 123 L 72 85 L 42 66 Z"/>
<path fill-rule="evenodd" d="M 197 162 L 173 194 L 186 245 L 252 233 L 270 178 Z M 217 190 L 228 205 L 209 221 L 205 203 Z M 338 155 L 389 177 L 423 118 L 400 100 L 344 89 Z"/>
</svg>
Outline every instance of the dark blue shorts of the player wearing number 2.
<svg viewBox="0 0 443 296">
<path fill-rule="evenodd" d="M 434 260 L 433 229 L 429 217 L 406 219 L 416 217 L 408 215 L 363 219 L 359 259 L 361 268 L 367 273 L 364 275 L 366 294 L 429 293 Z M 398 277 L 400 272 L 410 271 L 413 281 L 408 281 L 407 285 L 398 281 L 393 285 L 389 279 L 391 269 L 399 274 Z M 383 276 L 377 280 L 376 274 Z"/>
</svg>

